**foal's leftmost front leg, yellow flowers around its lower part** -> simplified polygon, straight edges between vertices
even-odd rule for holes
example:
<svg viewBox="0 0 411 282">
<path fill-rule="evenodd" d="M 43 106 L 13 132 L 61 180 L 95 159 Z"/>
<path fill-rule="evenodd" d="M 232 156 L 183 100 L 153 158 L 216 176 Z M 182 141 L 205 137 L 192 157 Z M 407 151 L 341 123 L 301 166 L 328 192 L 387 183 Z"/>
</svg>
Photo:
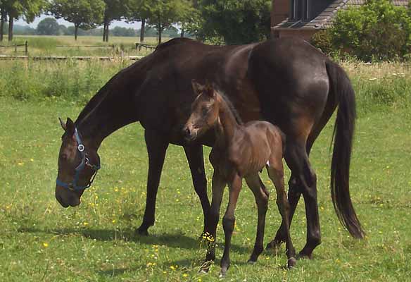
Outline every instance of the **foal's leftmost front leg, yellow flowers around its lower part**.
<svg viewBox="0 0 411 282">
<path fill-rule="evenodd" d="M 213 198 L 211 200 L 211 208 L 210 208 L 210 216 L 208 219 L 208 231 L 205 232 L 204 235 L 207 237 L 206 240 L 210 240 L 210 245 L 207 249 L 207 255 L 205 256 L 205 263 L 201 266 L 201 271 L 208 272 L 210 269 L 210 262 L 214 262 L 215 260 L 215 242 L 217 241 L 217 224 L 220 219 L 220 207 L 222 201 L 222 195 L 224 195 L 224 189 L 227 182 L 225 178 L 220 176 L 218 173 L 214 171 L 213 173 L 213 182 L 212 182 L 212 190 L 213 190 Z"/>
</svg>

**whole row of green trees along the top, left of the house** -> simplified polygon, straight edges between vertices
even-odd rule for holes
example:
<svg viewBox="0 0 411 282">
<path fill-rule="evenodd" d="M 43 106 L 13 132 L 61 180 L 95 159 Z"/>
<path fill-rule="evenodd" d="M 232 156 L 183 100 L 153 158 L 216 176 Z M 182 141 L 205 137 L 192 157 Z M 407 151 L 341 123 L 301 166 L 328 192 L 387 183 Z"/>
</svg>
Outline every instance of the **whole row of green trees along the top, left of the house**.
<svg viewBox="0 0 411 282">
<path fill-rule="evenodd" d="M 13 23 L 23 18 L 31 23 L 47 13 L 72 23 L 75 39 L 79 32 L 102 27 L 107 42 L 114 20 L 141 22 L 140 41 L 147 29 L 156 30 L 158 42 L 176 25 L 209 42 L 241 44 L 270 36 L 271 0 L 0 0 L 0 40 L 8 22 L 8 40 Z M 63 27 L 61 27 L 63 28 Z M 70 28 L 70 27 L 69 27 Z"/>
</svg>

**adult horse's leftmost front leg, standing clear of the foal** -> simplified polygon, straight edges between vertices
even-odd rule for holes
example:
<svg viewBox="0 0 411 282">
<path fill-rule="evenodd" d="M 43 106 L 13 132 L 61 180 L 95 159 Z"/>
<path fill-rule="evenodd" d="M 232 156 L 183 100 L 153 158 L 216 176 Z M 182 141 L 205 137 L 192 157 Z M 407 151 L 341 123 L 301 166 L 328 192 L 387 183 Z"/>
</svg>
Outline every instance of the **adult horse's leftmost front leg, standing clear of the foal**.
<svg viewBox="0 0 411 282">
<path fill-rule="evenodd" d="M 167 151 L 168 142 L 161 135 L 152 130 L 144 131 L 144 139 L 148 152 L 148 178 L 147 178 L 147 197 L 146 209 L 141 226 L 137 233 L 148 235 L 148 227 L 154 225 L 156 212 L 156 198 L 158 184 L 160 183 L 161 171 L 163 169 L 165 152 Z"/>
</svg>

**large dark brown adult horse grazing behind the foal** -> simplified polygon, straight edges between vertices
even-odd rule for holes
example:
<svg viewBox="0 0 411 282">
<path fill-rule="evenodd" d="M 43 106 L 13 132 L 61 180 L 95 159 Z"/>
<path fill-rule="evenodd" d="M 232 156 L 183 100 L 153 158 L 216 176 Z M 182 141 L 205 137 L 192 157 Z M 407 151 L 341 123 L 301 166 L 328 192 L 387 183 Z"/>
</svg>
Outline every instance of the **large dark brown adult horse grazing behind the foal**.
<svg viewBox="0 0 411 282">
<path fill-rule="evenodd" d="M 355 124 L 353 88 L 336 63 L 307 42 L 293 38 L 227 47 L 173 39 L 120 71 L 91 98 L 75 123 L 68 120 L 63 124 L 65 135 L 58 160 L 58 180 L 65 185 L 56 185 L 58 202 L 63 207 L 80 204 L 82 187 L 89 184 L 99 165 L 97 150 L 101 142 L 118 128 L 139 121 L 145 129 L 148 181 L 146 210 L 138 232 L 147 234 L 148 227 L 154 224 L 158 183 L 170 143 L 184 147 L 207 230 L 210 202 L 202 145 L 213 145 L 215 138 L 210 134 L 196 144 L 184 142 L 182 128 L 194 101 L 192 79 L 207 79 L 220 87 L 245 122 L 264 119 L 278 125 L 286 134 L 285 159 L 291 168 L 290 222 L 303 194 L 307 243 L 300 255 L 306 257 L 311 257 L 321 241 L 317 178 L 308 154 L 339 106 L 331 163 L 331 196 L 341 223 L 355 238 L 362 238 L 349 191 Z M 76 131 L 83 152 L 79 151 Z M 91 165 L 85 165 L 86 159 Z M 80 164 L 84 164 L 80 166 L 84 169 L 79 168 Z M 78 189 L 73 189 L 74 186 Z M 283 222 L 270 246 L 285 240 Z"/>
</svg>

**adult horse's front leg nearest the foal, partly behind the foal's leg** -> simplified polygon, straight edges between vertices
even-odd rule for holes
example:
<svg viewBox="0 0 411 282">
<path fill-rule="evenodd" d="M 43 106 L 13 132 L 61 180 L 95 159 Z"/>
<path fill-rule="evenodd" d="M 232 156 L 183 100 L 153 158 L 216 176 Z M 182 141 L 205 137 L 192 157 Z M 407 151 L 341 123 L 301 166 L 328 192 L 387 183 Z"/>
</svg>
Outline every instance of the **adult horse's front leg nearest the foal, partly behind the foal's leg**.
<svg viewBox="0 0 411 282">
<path fill-rule="evenodd" d="M 203 146 L 184 146 L 187 161 L 189 161 L 191 178 L 193 179 L 194 190 L 200 198 L 204 215 L 203 233 L 208 230 L 208 217 L 210 214 L 210 201 L 207 196 L 207 178 L 205 178 Z"/>
</svg>

